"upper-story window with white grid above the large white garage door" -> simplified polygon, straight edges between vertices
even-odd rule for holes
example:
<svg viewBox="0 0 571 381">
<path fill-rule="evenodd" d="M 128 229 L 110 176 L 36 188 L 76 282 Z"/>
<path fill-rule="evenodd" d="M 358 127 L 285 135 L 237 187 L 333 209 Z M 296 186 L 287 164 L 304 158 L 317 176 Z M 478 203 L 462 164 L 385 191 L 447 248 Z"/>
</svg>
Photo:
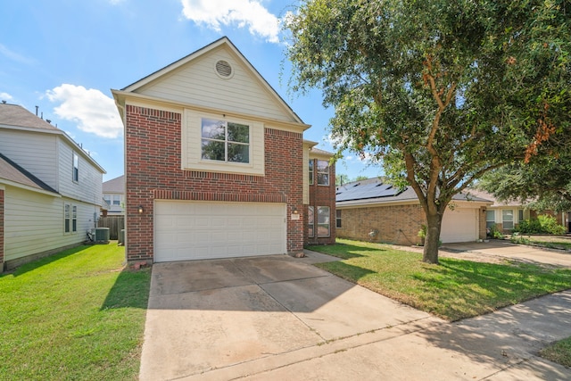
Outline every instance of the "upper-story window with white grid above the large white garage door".
<svg viewBox="0 0 571 381">
<path fill-rule="evenodd" d="M 250 162 L 250 126 L 203 119 L 202 157 L 217 162 Z"/>
</svg>

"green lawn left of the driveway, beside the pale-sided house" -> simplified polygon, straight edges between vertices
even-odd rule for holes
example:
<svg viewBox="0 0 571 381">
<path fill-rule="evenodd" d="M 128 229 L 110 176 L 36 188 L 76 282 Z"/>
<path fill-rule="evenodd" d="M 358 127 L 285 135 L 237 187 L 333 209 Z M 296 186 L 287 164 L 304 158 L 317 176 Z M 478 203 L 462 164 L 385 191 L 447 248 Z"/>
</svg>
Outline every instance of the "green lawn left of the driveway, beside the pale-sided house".
<svg viewBox="0 0 571 381">
<path fill-rule="evenodd" d="M 151 271 L 123 261 L 80 246 L 0 276 L 0 379 L 137 379 Z"/>
</svg>

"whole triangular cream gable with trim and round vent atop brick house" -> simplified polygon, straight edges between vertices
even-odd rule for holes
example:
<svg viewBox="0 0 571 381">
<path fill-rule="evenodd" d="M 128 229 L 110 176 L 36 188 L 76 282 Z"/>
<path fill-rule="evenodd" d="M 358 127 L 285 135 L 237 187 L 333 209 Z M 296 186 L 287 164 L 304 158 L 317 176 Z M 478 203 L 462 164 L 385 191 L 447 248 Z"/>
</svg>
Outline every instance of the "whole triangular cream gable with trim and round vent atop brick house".
<svg viewBox="0 0 571 381">
<path fill-rule="evenodd" d="M 122 91 L 303 123 L 228 37 L 188 54 Z"/>
</svg>

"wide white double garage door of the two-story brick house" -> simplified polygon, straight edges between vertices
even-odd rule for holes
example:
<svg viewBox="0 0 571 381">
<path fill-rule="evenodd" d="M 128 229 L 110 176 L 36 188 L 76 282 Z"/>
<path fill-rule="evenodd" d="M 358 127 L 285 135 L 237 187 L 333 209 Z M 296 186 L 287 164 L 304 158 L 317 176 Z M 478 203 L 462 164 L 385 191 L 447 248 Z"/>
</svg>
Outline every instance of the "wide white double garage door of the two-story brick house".
<svg viewBox="0 0 571 381">
<path fill-rule="evenodd" d="M 154 261 L 285 253 L 285 203 L 154 203 Z"/>
</svg>

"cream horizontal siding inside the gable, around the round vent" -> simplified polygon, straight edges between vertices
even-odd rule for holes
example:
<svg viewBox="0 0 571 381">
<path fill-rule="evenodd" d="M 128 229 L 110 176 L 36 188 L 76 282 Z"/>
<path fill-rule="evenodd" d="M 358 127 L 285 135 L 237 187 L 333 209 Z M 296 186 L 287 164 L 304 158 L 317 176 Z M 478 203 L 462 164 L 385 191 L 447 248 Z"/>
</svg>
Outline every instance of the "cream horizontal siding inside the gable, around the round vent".
<svg viewBox="0 0 571 381">
<path fill-rule="evenodd" d="M 216 73 L 219 60 L 232 66 L 232 78 L 222 79 Z M 225 48 L 214 49 L 196 58 L 168 77 L 137 90 L 137 93 L 272 120 L 295 121 L 291 111 L 277 102 L 277 98 L 251 70 Z"/>
</svg>

